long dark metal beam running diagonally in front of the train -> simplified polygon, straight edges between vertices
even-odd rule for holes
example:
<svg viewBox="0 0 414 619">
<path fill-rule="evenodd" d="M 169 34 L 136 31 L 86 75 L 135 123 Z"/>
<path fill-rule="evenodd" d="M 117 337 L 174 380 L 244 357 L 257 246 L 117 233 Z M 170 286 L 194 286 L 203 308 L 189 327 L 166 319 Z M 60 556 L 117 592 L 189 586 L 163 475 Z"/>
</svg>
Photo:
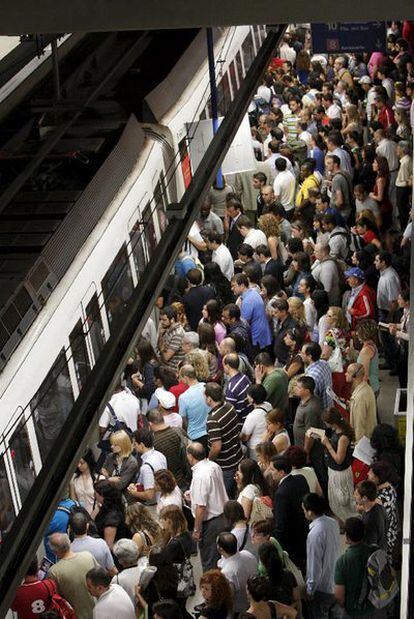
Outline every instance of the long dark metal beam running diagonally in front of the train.
<svg viewBox="0 0 414 619">
<path fill-rule="evenodd" d="M 43 532 L 50 522 L 62 490 L 68 484 L 76 462 L 82 455 L 98 411 L 108 401 L 137 336 L 141 333 L 188 231 L 201 201 L 211 185 L 247 111 L 252 95 L 280 42 L 285 26 L 271 31 L 256 56 L 230 109 L 207 152 L 194 173 L 180 205 L 184 218 L 173 220 L 148 264 L 140 285 L 134 290 L 124 313 L 120 331 L 107 342 L 87 383 L 76 400 L 52 453 L 23 504 L 0 550 L 0 616 L 4 617 L 16 587 L 22 581 L 30 559 L 35 555 Z"/>
</svg>

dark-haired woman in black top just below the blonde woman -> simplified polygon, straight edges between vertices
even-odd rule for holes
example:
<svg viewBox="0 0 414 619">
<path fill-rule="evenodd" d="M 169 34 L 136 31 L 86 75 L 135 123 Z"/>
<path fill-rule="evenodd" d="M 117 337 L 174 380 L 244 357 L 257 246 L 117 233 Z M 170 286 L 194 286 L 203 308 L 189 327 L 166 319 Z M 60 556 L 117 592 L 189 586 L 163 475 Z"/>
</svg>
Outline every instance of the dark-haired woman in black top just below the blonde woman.
<svg viewBox="0 0 414 619">
<path fill-rule="evenodd" d="M 125 507 L 121 491 L 106 479 L 94 484 L 99 511 L 95 516 L 96 530 L 112 549 L 114 542 L 129 537 L 125 526 Z"/>
</svg>

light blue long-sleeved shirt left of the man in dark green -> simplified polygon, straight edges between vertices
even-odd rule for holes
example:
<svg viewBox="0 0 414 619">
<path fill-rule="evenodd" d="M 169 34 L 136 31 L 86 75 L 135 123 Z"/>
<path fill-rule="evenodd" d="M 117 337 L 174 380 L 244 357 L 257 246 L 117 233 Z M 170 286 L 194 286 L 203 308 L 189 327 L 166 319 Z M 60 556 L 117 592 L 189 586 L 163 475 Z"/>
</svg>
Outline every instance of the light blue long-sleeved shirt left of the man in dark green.
<svg viewBox="0 0 414 619">
<path fill-rule="evenodd" d="M 306 541 L 307 593 L 333 593 L 335 563 L 340 554 L 338 523 L 329 516 L 319 516 L 310 523 Z"/>
</svg>

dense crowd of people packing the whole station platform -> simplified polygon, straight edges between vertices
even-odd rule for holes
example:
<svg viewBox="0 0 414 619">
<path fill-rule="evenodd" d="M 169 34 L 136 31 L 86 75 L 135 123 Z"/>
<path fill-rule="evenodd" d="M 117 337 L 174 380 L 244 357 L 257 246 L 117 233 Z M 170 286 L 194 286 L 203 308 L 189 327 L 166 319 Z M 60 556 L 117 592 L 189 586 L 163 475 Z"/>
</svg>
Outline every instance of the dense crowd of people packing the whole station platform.
<svg viewBox="0 0 414 619">
<path fill-rule="evenodd" d="M 306 40 L 258 88 L 257 170 L 205 199 L 19 619 L 396 616 L 368 565 L 398 579 L 403 447 L 378 401 L 380 370 L 407 386 L 414 26 L 387 53 Z"/>
</svg>

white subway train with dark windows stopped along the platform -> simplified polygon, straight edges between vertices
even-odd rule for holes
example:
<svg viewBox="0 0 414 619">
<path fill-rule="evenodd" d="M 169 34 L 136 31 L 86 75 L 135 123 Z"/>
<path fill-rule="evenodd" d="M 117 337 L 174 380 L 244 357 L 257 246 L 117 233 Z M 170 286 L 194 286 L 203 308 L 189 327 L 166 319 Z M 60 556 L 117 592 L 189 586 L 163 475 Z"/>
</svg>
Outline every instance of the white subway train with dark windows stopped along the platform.
<svg viewBox="0 0 414 619">
<path fill-rule="evenodd" d="M 219 114 L 237 92 L 266 36 L 264 26 L 215 29 Z M 166 206 L 191 180 L 189 123 L 211 117 L 206 33 L 200 30 L 131 114 L 118 143 L 48 245 L 64 263 L 68 230 L 84 234 L 0 374 L 0 535 L 11 526 L 88 372 L 139 285 L 167 225 Z M 115 189 L 114 189 L 115 188 Z M 63 267 L 62 267 L 63 269 Z M 1 539 L 0 539 L 1 542 Z"/>
</svg>

